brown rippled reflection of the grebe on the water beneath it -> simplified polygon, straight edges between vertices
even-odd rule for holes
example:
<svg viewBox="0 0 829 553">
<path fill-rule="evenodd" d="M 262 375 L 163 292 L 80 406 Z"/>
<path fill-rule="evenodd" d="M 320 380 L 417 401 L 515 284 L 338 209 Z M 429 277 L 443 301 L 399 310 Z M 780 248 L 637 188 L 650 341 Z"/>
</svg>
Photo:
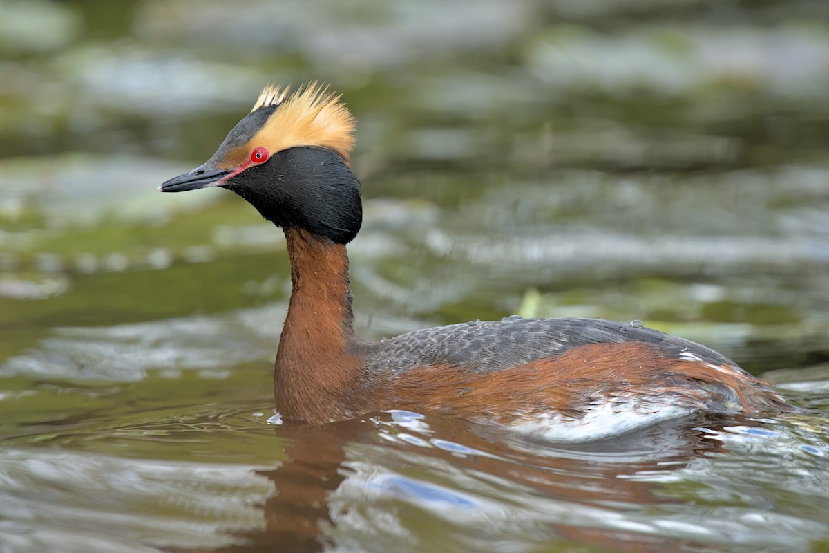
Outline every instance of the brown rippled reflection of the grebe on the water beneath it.
<svg viewBox="0 0 829 553">
<path fill-rule="evenodd" d="M 261 473 L 276 488 L 262 507 L 265 527 L 216 551 L 351 551 L 360 543 L 432 551 L 418 547 L 431 537 L 451 538 L 453 551 L 498 551 L 490 546 L 510 541 L 678 551 L 694 544 L 637 529 L 636 519 L 643 508 L 681 500 L 638 476 L 681 473 L 720 451 L 720 442 L 676 421 L 622 439 L 555 445 L 448 417 L 426 417 L 419 429 L 388 414 L 372 420 L 275 429 L 289 460 Z"/>
</svg>

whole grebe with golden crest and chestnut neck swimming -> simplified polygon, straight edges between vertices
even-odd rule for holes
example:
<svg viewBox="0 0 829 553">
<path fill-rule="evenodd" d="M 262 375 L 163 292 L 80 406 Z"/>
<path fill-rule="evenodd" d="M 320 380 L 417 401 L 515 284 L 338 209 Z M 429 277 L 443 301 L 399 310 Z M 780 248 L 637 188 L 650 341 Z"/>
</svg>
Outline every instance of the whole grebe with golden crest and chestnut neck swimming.
<svg viewBox="0 0 829 553">
<path fill-rule="evenodd" d="M 697 411 L 792 409 L 720 353 L 641 325 L 513 317 L 361 341 L 346 253 L 362 222 L 355 127 L 327 88 L 271 85 L 212 158 L 158 187 L 226 188 L 284 230 L 292 290 L 274 368 L 284 418 L 400 409 L 594 439 Z"/>
</svg>

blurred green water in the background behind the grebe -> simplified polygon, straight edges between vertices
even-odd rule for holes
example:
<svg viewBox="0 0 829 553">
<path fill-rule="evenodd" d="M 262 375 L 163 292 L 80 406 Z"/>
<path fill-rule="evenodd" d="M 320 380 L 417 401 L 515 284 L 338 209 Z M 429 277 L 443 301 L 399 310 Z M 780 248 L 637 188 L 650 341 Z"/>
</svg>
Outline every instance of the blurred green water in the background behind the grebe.
<svg viewBox="0 0 829 553">
<path fill-rule="evenodd" d="M 255 211 L 154 188 L 264 84 L 310 80 L 360 122 L 369 337 L 521 311 L 640 318 L 757 370 L 829 355 L 825 2 L 0 12 L 0 373 L 56 327 L 283 302 Z"/>
</svg>

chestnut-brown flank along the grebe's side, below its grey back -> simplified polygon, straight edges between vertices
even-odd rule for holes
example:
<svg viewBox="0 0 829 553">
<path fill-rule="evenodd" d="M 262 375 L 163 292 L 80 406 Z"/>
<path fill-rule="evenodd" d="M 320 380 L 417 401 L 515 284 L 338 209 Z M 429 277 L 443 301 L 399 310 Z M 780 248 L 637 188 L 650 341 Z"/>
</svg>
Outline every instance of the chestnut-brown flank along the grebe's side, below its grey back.
<svg viewBox="0 0 829 553">
<path fill-rule="evenodd" d="M 598 343 L 502 371 L 416 368 L 391 382 L 390 398 L 399 409 L 502 424 L 556 412 L 578 419 L 591 402 L 631 399 L 646 405 L 649 395 L 672 395 L 678 404 L 702 408 L 722 386 L 734 391 L 737 401 L 728 402 L 726 394 L 724 403 L 735 411 L 756 414 L 758 407 L 787 405 L 763 381 L 722 368 L 668 357 L 647 342 Z"/>
</svg>

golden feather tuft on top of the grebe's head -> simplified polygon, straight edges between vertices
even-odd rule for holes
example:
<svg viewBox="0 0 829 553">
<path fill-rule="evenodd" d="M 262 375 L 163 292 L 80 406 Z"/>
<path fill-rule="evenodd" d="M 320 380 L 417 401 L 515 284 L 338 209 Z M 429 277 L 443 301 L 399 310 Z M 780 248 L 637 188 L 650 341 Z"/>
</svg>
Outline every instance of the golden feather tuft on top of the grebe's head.
<svg viewBox="0 0 829 553">
<path fill-rule="evenodd" d="M 316 82 L 294 92 L 290 87 L 265 87 L 253 110 L 277 107 L 250 146 L 264 146 L 272 153 L 296 146 L 331 148 L 348 162 L 354 148 L 356 120 L 340 98 Z"/>
</svg>

